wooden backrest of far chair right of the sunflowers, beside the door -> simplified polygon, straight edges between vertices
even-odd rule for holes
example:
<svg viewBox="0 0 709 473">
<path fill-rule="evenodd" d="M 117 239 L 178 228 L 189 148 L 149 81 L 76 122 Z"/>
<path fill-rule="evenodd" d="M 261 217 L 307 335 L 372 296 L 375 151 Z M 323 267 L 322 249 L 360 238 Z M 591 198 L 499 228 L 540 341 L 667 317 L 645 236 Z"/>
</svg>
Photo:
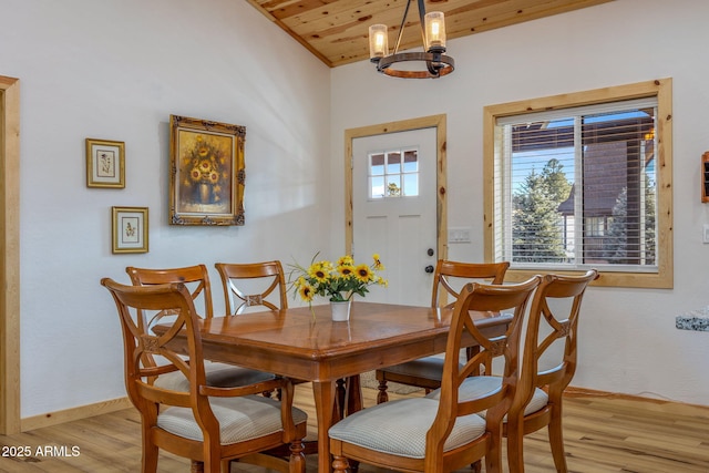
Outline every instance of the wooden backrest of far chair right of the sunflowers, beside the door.
<svg viewBox="0 0 709 473">
<path fill-rule="evenodd" d="M 439 259 L 433 274 L 433 292 L 431 307 L 453 307 L 458 299 L 458 286 L 467 282 L 487 282 L 501 285 L 504 282 L 505 273 L 510 261 L 503 263 L 460 263 Z M 448 304 L 448 296 L 452 296 L 452 302 Z"/>
</svg>

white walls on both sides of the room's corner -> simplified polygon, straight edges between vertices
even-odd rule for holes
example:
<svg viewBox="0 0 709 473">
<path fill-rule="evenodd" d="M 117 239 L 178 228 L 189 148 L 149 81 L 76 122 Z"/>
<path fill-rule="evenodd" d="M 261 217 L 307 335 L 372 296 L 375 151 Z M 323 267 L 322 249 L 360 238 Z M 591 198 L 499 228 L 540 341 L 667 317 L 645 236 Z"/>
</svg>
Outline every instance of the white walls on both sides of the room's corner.
<svg viewBox="0 0 709 473">
<path fill-rule="evenodd" d="M 618 0 L 451 41 L 452 75 L 404 81 L 368 61 L 329 71 L 243 1 L 0 0 L 0 74 L 21 80 L 22 417 L 125 394 L 101 277 L 339 255 L 346 128 L 448 114 L 449 225 L 474 229 L 449 256 L 479 260 L 484 105 L 667 76 L 675 289 L 590 289 L 574 384 L 709 404 L 709 333 L 675 329 L 709 305 L 708 17 L 703 2 Z M 247 127 L 246 226 L 166 224 L 171 114 Z M 125 189 L 85 187 L 86 137 L 125 142 Z M 111 254 L 113 205 L 150 207 L 148 254 Z"/>
</svg>

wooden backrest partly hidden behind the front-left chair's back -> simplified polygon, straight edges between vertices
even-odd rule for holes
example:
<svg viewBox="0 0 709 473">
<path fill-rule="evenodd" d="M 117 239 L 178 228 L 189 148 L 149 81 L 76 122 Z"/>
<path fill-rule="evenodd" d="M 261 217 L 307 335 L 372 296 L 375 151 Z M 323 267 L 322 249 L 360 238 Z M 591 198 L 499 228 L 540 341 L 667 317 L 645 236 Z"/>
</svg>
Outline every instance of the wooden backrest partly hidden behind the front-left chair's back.
<svg viewBox="0 0 709 473">
<path fill-rule="evenodd" d="M 212 285 L 209 284 L 209 273 L 205 265 L 167 269 L 134 268 L 129 266 L 125 268 L 125 271 L 131 277 L 131 282 L 133 282 L 134 286 L 182 282 L 187 287 L 193 301 L 197 301 L 197 299 L 201 298 L 204 302 L 204 310 L 198 311 L 197 313 L 205 318 L 213 317 Z M 157 313 L 153 317 L 152 322 L 148 322 L 147 327 L 171 313 L 173 312 L 169 310 Z"/>
</svg>

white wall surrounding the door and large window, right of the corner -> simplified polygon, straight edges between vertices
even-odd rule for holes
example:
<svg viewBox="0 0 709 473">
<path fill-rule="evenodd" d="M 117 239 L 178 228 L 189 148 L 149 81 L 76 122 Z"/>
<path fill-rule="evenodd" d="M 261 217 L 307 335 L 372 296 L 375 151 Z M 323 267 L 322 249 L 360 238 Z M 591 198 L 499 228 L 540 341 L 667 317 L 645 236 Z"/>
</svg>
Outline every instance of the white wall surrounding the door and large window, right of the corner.
<svg viewBox="0 0 709 473">
<path fill-rule="evenodd" d="M 449 257 L 483 258 L 482 110 L 485 105 L 674 78 L 675 289 L 592 288 L 573 385 L 709 404 L 709 332 L 675 317 L 709 305 L 700 157 L 709 150 L 709 2 L 617 0 L 449 41 L 456 61 L 440 80 L 381 76 L 369 62 L 332 71 L 330 177 L 342 175 L 343 130 L 448 115 L 449 226 L 473 228 Z M 333 195 L 336 197 L 336 195 Z M 332 244 L 342 209 L 332 207 Z"/>
</svg>

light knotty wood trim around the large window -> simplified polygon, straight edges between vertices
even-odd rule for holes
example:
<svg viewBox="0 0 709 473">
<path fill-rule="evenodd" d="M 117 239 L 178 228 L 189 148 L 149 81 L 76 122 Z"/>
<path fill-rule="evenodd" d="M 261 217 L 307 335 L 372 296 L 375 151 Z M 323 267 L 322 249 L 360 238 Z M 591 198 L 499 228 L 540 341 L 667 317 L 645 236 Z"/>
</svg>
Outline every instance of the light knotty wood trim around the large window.
<svg viewBox="0 0 709 473">
<path fill-rule="evenodd" d="M 667 288 L 674 286 L 672 255 L 672 80 L 658 79 L 586 92 L 531 99 L 483 109 L 483 207 L 485 260 L 494 260 L 494 130 L 499 117 L 641 97 L 657 97 L 657 250 L 658 271 L 602 273 L 595 286 Z M 538 270 L 510 269 L 505 280 L 524 280 Z M 559 271 L 564 273 L 564 271 Z M 573 274 L 576 271 L 566 271 Z"/>
</svg>

